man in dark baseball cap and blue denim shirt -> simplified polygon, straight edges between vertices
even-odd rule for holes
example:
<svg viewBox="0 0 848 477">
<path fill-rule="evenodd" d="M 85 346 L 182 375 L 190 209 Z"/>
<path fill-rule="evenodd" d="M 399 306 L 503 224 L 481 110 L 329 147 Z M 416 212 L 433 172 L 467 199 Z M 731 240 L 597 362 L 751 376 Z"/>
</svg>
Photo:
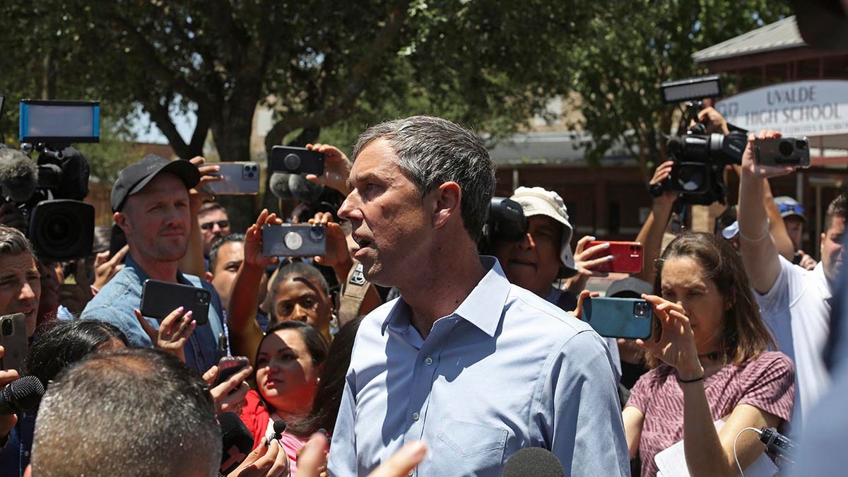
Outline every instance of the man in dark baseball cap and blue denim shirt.
<svg viewBox="0 0 848 477">
<path fill-rule="evenodd" d="M 155 154 L 126 166 L 114 182 L 111 205 L 114 222 L 126 234 L 130 252 L 126 265 L 107 283 L 82 311 L 81 318 L 112 323 L 126 335 L 131 345 L 151 346 L 148 333 L 139 323 L 136 310 L 141 306 L 142 284 L 148 278 L 170 283 L 203 287 L 212 295 L 209 323 L 191 326 L 182 331 L 188 334 L 185 358 L 189 367 L 204 373 L 218 361 L 218 337 L 223 333 L 220 319 L 220 299 L 214 287 L 193 275 L 183 274 L 177 267 L 186 255 L 192 217 L 189 189 L 204 182 L 206 172 L 217 166 L 203 166 L 202 158 L 167 160 Z M 204 173 L 201 172 L 204 171 Z M 187 304 L 188 305 L 188 304 Z M 186 318 L 182 323 L 188 321 Z M 159 328 L 153 318 L 142 318 L 152 328 Z"/>
</svg>

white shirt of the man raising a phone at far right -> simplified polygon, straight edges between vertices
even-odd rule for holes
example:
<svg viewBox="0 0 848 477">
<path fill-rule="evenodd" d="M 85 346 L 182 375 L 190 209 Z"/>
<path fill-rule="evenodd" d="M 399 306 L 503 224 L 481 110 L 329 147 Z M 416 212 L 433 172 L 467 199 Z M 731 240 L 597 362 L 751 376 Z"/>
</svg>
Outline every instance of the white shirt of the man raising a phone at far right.
<svg viewBox="0 0 848 477">
<path fill-rule="evenodd" d="M 754 295 L 780 351 L 795 362 L 792 427 L 797 433 L 830 384 L 822 352 L 830 329 L 831 293 L 821 262 L 806 270 L 779 259 L 780 275 L 772 289 Z"/>
</svg>

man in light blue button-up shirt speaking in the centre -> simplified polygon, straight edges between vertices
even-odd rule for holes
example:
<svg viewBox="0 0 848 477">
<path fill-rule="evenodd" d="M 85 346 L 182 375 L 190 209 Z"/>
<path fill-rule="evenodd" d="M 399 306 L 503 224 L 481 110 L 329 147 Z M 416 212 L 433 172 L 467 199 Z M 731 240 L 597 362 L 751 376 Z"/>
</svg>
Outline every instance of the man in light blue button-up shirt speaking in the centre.
<svg viewBox="0 0 848 477">
<path fill-rule="evenodd" d="M 368 474 L 422 440 L 419 475 L 500 475 L 528 446 L 568 475 L 629 475 L 600 337 L 477 256 L 494 193 L 477 134 L 426 116 L 371 127 L 349 182 L 354 257 L 400 298 L 360 325 L 330 472 Z"/>
</svg>

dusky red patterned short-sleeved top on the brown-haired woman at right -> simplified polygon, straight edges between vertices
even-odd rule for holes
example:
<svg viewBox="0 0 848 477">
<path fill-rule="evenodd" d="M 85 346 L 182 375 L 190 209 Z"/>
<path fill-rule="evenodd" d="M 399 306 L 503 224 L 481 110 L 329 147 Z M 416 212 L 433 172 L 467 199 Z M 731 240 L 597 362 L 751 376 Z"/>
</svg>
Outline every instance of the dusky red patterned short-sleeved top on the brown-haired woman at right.
<svg viewBox="0 0 848 477">
<path fill-rule="evenodd" d="M 739 404 L 749 404 L 789 421 L 795 401 L 795 368 L 789 356 L 767 351 L 739 366 L 728 364 L 704 379 L 713 421 Z M 639 453 L 642 477 L 653 477 L 654 456 L 683 439 L 683 390 L 674 368 L 661 365 L 644 374 L 630 391 L 628 406 L 644 414 Z"/>
</svg>

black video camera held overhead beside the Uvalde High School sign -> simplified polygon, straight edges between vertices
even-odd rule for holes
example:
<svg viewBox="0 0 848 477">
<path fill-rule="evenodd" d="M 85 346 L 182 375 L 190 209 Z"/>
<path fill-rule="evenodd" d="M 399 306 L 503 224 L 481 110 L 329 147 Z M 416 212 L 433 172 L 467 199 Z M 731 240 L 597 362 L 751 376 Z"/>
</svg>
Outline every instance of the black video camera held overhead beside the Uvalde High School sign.
<svg viewBox="0 0 848 477">
<path fill-rule="evenodd" d="M 674 161 L 671 176 L 654 184 L 650 194 L 659 197 L 664 191 L 679 194 L 682 204 L 724 204 L 727 186 L 724 183 L 725 166 L 740 164 L 748 141 L 745 132 L 732 131 L 728 135 L 706 133 L 706 126 L 698 122 L 698 111 L 703 109 L 701 99 L 721 96 L 722 87 L 718 76 L 703 76 L 681 81 L 666 81 L 661 84 L 666 103 L 685 102 L 683 111 L 687 121 L 695 125 L 683 136 L 668 140 L 669 158 Z"/>
</svg>

